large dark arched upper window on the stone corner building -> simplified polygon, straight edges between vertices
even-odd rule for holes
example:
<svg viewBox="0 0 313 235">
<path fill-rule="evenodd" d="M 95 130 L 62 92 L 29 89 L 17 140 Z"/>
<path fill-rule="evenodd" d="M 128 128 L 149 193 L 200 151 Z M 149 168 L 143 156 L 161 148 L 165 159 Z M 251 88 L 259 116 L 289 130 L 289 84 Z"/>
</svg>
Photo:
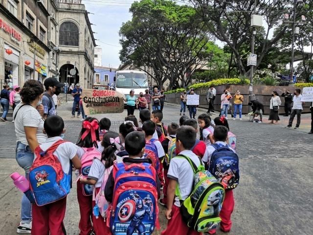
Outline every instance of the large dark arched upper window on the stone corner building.
<svg viewBox="0 0 313 235">
<path fill-rule="evenodd" d="M 79 30 L 73 22 L 64 22 L 60 26 L 59 44 L 78 47 Z"/>
</svg>

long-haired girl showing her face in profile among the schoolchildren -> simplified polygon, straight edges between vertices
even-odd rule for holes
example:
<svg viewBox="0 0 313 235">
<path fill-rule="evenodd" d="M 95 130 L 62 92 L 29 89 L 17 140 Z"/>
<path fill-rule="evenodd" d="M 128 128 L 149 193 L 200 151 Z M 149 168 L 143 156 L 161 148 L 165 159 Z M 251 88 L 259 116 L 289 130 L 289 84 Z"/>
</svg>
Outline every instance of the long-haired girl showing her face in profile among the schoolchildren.
<svg viewBox="0 0 313 235">
<path fill-rule="evenodd" d="M 206 146 L 214 143 L 213 141 L 213 131 L 214 127 L 211 123 L 211 118 L 207 114 L 201 114 L 198 117 L 198 123 L 200 127 L 200 140 L 204 141 Z"/>
</svg>

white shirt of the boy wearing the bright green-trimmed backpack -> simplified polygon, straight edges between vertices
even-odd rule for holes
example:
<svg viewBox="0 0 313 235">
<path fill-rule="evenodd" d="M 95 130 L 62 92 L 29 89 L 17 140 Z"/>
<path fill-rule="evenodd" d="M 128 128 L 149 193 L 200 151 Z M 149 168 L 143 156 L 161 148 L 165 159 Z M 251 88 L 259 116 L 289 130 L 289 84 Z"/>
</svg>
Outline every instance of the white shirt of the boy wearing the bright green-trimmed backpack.
<svg viewBox="0 0 313 235">
<path fill-rule="evenodd" d="M 181 151 L 179 155 L 189 157 L 197 167 L 200 165 L 199 157 L 190 150 Z M 194 171 L 190 163 L 184 158 L 173 158 L 168 169 L 167 177 L 177 181 L 181 200 L 185 200 L 189 196 L 194 184 Z M 178 196 L 175 196 L 174 205 L 180 207 Z"/>
</svg>

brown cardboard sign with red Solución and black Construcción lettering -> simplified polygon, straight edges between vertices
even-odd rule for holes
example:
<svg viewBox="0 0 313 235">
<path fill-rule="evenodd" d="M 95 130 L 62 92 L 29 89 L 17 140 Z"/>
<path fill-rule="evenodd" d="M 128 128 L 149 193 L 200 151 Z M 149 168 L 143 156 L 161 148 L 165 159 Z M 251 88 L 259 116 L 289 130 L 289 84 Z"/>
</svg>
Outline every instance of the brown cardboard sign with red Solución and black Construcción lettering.
<svg viewBox="0 0 313 235">
<path fill-rule="evenodd" d="M 123 113 L 123 95 L 111 90 L 83 89 L 85 115 Z"/>
</svg>

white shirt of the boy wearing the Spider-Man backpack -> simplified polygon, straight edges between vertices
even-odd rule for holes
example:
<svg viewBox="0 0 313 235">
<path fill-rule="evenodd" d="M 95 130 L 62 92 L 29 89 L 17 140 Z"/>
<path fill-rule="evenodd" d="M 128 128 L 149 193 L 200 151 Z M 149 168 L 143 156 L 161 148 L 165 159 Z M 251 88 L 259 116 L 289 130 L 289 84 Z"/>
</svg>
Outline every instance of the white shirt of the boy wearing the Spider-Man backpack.
<svg viewBox="0 0 313 235">
<path fill-rule="evenodd" d="M 47 138 L 45 143 L 40 144 L 40 148 L 43 151 L 46 151 L 49 147 L 51 147 L 56 141 L 63 140 L 60 136 Z M 61 143 L 57 149 L 54 151 L 54 155 L 59 159 L 62 169 L 65 173 L 68 174 L 70 170 L 69 161 L 75 157 L 77 154 L 78 146 L 73 144 L 72 142 Z"/>
</svg>

